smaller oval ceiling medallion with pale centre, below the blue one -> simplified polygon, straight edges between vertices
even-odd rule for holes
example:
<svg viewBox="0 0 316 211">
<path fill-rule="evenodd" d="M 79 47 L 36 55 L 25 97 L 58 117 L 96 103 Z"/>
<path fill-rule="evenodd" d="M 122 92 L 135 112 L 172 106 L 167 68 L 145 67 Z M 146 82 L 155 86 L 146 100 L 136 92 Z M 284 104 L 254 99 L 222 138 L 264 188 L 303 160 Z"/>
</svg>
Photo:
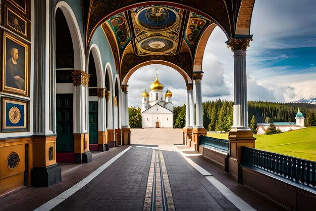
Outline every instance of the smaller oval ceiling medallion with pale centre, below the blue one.
<svg viewBox="0 0 316 211">
<path fill-rule="evenodd" d="M 149 37 L 143 40 L 139 47 L 144 52 L 162 53 L 174 47 L 173 41 L 163 37 Z"/>
</svg>

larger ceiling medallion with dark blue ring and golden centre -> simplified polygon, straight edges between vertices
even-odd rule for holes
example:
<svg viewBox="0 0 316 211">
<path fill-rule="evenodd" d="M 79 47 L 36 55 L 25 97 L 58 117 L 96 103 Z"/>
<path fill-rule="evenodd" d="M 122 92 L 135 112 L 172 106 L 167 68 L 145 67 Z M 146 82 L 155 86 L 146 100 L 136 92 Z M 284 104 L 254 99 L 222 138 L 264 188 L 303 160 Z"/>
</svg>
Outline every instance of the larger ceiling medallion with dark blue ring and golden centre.
<svg viewBox="0 0 316 211">
<path fill-rule="evenodd" d="M 144 29 L 163 30 L 175 26 L 179 22 L 179 15 L 169 8 L 155 6 L 137 13 L 136 21 Z"/>
</svg>

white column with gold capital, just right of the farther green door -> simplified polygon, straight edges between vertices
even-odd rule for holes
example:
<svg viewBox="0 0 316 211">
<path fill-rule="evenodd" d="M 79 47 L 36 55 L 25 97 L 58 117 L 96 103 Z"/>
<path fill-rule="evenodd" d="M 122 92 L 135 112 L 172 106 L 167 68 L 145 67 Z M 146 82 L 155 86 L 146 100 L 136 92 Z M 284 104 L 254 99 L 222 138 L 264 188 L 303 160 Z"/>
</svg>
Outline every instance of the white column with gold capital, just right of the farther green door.
<svg viewBox="0 0 316 211">
<path fill-rule="evenodd" d="M 106 88 L 97 89 L 97 102 L 98 102 L 98 131 L 107 131 L 106 127 Z"/>
</svg>

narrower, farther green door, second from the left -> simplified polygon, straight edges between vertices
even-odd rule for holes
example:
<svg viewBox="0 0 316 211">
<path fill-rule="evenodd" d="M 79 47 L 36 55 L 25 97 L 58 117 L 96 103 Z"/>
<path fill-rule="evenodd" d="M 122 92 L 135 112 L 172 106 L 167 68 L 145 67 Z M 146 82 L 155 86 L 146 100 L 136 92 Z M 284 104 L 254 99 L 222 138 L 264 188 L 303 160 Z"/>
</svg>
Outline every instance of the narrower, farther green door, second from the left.
<svg viewBox="0 0 316 211">
<path fill-rule="evenodd" d="M 89 144 L 97 144 L 97 102 L 89 102 Z"/>
</svg>

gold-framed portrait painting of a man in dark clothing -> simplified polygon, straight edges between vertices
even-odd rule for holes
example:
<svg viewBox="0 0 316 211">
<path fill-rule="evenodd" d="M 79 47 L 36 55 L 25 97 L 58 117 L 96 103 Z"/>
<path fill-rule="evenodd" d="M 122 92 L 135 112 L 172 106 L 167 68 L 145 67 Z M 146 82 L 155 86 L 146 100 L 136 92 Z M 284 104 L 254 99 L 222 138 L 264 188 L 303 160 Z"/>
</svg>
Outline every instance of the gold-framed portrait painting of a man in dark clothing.
<svg viewBox="0 0 316 211">
<path fill-rule="evenodd" d="M 29 45 L 4 32 L 2 91 L 28 95 Z"/>
</svg>

